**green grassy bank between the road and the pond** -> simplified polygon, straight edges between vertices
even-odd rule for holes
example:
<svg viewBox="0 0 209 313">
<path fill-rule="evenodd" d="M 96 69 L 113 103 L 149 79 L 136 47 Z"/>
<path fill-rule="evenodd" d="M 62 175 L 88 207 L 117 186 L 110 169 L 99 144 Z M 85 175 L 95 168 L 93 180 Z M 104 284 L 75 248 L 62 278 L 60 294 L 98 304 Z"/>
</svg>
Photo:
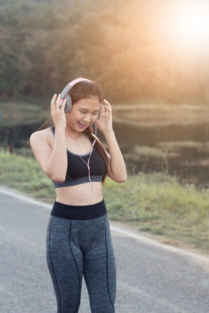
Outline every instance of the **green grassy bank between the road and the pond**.
<svg viewBox="0 0 209 313">
<path fill-rule="evenodd" d="M 56 192 L 34 157 L 0 149 L 0 184 L 34 198 L 53 202 Z M 123 183 L 107 178 L 104 198 L 109 219 L 128 223 L 157 235 L 162 242 L 198 247 L 209 252 L 209 190 L 180 185 L 165 173 L 129 175 Z"/>
</svg>

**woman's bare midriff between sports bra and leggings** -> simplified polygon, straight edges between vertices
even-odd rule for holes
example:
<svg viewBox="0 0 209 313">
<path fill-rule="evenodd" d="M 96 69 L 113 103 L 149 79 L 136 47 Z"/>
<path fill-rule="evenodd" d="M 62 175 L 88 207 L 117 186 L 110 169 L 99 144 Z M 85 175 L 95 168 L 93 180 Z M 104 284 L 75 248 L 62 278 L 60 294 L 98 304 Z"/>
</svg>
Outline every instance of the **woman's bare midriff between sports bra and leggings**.
<svg viewBox="0 0 209 313">
<path fill-rule="evenodd" d="M 93 193 L 90 182 L 69 187 L 58 187 L 55 189 L 57 193 L 56 201 L 64 204 L 71 204 L 79 198 L 87 198 L 72 203 L 72 205 L 89 205 L 102 201 L 102 182 L 92 181 L 92 185 Z"/>
</svg>

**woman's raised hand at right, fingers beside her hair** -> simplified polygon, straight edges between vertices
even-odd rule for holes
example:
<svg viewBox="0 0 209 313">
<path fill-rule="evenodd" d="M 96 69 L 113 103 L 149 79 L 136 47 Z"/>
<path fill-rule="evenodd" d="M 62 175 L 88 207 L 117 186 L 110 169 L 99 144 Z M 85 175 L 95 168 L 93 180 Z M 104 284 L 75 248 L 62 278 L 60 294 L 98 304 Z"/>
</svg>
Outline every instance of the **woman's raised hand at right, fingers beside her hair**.
<svg viewBox="0 0 209 313">
<path fill-rule="evenodd" d="M 110 103 L 104 99 L 105 104 L 101 103 L 101 116 L 100 119 L 97 119 L 97 127 L 100 131 L 111 131 L 112 128 L 112 107 Z M 104 109 L 106 107 L 106 112 Z"/>
</svg>

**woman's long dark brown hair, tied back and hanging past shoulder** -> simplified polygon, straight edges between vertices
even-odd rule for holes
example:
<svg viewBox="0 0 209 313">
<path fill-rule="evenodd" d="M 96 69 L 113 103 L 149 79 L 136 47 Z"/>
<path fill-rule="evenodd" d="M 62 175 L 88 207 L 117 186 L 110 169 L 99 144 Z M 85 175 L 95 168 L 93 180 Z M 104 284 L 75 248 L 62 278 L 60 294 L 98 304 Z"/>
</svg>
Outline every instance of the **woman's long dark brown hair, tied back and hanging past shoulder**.
<svg viewBox="0 0 209 313">
<path fill-rule="evenodd" d="M 84 78 L 84 77 L 78 77 L 78 78 Z M 79 83 L 76 83 L 68 92 L 69 95 L 71 96 L 72 99 L 72 105 L 74 103 L 76 103 L 77 101 L 79 101 L 80 99 L 84 99 L 84 98 L 92 98 L 92 97 L 98 97 L 100 103 L 104 100 L 104 94 L 102 92 L 101 86 L 100 84 L 96 81 L 96 80 L 84 80 L 84 81 L 80 81 Z M 41 129 L 45 129 L 51 126 L 55 126 L 52 115 L 50 115 L 45 122 L 43 123 L 43 125 L 37 129 L 41 130 Z M 83 130 L 83 133 L 85 133 L 89 139 L 91 140 L 91 142 L 93 143 L 95 137 L 93 136 L 93 127 L 90 125 L 88 126 L 86 129 Z M 107 158 L 107 154 L 105 152 L 105 149 L 103 147 L 103 145 L 96 139 L 96 142 L 94 144 L 97 152 L 101 155 L 101 157 L 104 160 L 105 163 L 105 172 L 103 174 L 102 177 L 102 184 L 105 181 L 105 177 L 107 175 L 107 164 L 108 164 L 108 158 Z"/>
</svg>

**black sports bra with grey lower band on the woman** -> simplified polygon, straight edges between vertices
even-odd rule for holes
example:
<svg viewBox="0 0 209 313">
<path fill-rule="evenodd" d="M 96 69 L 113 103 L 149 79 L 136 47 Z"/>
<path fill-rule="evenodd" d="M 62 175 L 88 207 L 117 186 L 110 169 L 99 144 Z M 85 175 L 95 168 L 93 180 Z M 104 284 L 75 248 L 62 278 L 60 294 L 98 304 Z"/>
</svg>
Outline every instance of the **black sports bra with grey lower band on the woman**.
<svg viewBox="0 0 209 313">
<path fill-rule="evenodd" d="M 51 126 L 50 129 L 53 135 L 55 135 L 55 126 Z M 89 155 L 90 152 L 82 154 L 81 157 L 85 162 L 87 162 Z M 67 157 L 68 168 L 65 181 L 63 183 L 58 183 L 52 180 L 55 188 L 74 186 L 80 183 L 89 182 L 89 170 L 80 156 L 67 149 Z M 102 181 L 102 176 L 105 172 L 105 163 L 102 156 L 97 152 L 94 146 L 89 160 L 89 166 L 91 181 Z"/>
</svg>

